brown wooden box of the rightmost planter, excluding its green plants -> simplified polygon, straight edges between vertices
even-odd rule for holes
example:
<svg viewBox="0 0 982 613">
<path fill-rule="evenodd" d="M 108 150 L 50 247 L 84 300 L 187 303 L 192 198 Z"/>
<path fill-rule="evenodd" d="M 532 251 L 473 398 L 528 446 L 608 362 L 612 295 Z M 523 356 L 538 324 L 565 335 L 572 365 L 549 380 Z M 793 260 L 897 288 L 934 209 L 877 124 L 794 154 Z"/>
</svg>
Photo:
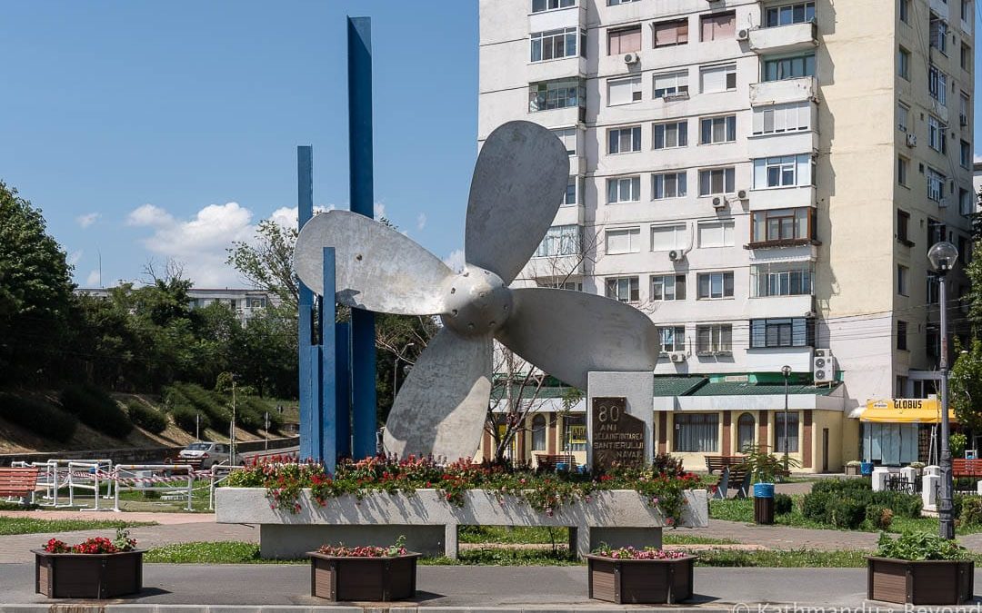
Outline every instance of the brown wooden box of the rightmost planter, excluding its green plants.
<svg viewBox="0 0 982 613">
<path fill-rule="evenodd" d="M 867 557 L 866 597 L 910 604 L 961 604 L 974 597 L 975 563 Z"/>
</svg>

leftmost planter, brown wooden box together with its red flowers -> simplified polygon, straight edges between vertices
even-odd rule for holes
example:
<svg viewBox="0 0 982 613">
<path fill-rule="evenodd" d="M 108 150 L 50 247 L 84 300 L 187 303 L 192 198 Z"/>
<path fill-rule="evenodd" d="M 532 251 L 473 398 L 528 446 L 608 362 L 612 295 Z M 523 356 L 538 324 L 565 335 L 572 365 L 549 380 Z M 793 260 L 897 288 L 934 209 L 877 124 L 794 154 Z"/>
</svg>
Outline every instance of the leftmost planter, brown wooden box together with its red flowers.
<svg viewBox="0 0 982 613">
<path fill-rule="evenodd" d="M 113 598 L 143 587 L 143 551 L 125 530 L 75 545 L 52 538 L 31 552 L 35 590 L 49 598 Z"/>
</svg>

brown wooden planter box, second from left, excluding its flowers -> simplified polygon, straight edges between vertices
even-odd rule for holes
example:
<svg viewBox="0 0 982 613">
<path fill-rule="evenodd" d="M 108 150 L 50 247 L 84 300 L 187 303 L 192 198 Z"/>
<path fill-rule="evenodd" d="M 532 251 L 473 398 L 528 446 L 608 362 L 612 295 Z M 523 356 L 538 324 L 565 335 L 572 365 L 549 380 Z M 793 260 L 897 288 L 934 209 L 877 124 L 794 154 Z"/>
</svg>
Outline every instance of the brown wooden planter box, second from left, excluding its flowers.
<svg viewBox="0 0 982 613">
<path fill-rule="evenodd" d="M 416 558 L 356 558 L 309 551 L 310 594 L 328 600 L 406 600 L 416 593 Z"/>
</svg>

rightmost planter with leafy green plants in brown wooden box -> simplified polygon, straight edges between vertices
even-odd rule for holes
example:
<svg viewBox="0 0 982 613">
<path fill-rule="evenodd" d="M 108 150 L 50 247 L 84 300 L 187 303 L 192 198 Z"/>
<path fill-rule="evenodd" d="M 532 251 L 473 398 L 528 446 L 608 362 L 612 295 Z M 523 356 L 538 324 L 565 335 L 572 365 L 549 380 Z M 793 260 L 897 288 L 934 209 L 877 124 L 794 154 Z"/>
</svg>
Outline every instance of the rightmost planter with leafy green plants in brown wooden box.
<svg viewBox="0 0 982 613">
<path fill-rule="evenodd" d="M 926 533 L 880 534 L 866 558 L 866 597 L 909 604 L 962 604 L 973 598 L 975 563 L 954 540 Z"/>
</svg>

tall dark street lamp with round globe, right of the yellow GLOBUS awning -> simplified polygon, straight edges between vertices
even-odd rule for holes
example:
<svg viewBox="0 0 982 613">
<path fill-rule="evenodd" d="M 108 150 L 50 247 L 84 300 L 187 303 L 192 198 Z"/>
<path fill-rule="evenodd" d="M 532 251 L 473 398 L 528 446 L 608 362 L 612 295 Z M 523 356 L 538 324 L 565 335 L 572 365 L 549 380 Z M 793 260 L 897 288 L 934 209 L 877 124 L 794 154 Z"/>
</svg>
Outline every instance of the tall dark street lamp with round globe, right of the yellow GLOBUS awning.
<svg viewBox="0 0 982 613">
<path fill-rule="evenodd" d="M 952 497 L 955 484 L 952 478 L 952 449 L 948 444 L 948 295 L 946 277 L 955 267 L 958 249 L 947 240 L 931 245 L 927 252 L 931 267 L 938 274 L 938 305 L 941 310 L 941 358 L 938 370 L 941 375 L 941 490 L 938 495 L 938 534 L 942 538 L 955 538 L 955 518 L 952 513 Z"/>
</svg>

